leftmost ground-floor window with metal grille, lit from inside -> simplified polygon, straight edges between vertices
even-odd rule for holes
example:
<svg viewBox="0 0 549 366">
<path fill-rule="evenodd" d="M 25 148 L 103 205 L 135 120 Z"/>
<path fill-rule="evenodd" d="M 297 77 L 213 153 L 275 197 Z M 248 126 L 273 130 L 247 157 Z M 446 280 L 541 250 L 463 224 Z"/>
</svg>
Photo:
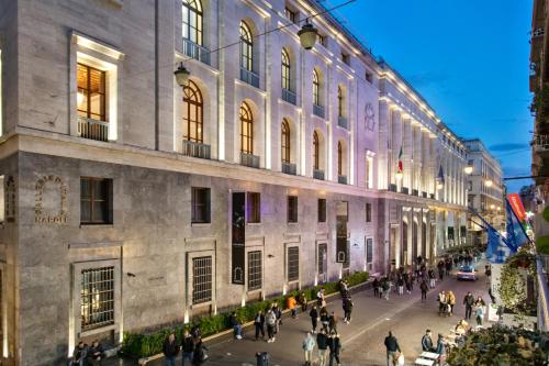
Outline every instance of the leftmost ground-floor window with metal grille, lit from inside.
<svg viewBox="0 0 549 366">
<path fill-rule="evenodd" d="M 82 331 L 114 324 L 114 267 L 82 269 L 80 315 Z"/>
</svg>

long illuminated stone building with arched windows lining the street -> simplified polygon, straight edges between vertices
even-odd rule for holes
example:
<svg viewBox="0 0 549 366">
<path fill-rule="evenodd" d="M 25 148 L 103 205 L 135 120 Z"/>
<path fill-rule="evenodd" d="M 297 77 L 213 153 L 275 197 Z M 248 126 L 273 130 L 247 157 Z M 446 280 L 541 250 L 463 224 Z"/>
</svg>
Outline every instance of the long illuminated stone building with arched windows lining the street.
<svg viewBox="0 0 549 366">
<path fill-rule="evenodd" d="M 0 2 L 4 364 L 464 240 L 463 144 L 328 13 L 302 48 L 318 12 Z"/>
</svg>

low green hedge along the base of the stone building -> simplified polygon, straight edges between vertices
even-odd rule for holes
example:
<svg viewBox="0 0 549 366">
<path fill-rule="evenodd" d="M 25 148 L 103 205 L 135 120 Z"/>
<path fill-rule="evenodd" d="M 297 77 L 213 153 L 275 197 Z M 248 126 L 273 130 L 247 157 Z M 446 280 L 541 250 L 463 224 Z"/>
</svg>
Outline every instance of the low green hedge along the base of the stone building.
<svg viewBox="0 0 549 366">
<path fill-rule="evenodd" d="M 366 282 L 369 279 L 368 271 L 358 271 L 350 276 L 345 277 L 349 287 Z M 302 289 L 305 293 L 307 300 L 313 300 L 316 298 L 316 292 L 322 287 L 326 295 L 337 292 L 339 290 L 339 281 L 326 282 L 320 286 L 311 287 L 307 289 Z M 254 320 L 256 313 L 259 310 L 266 311 L 273 302 L 277 302 L 282 309 L 285 308 L 285 300 L 289 297 L 298 296 L 300 291 L 294 290 L 285 296 L 279 296 L 264 301 L 250 302 L 245 307 L 234 309 L 236 311 L 237 318 L 244 323 Z M 194 319 L 188 324 L 173 324 L 161 329 L 153 333 L 131 333 L 124 332 L 124 339 L 122 341 L 122 354 L 130 357 L 148 357 L 163 352 L 163 343 L 168 336 L 170 331 L 175 331 L 176 339 L 181 342 L 183 331 L 186 329 L 190 330 L 193 325 L 200 326 L 202 331 L 202 336 L 209 336 L 212 334 L 220 333 L 229 328 L 228 325 L 229 311 L 219 313 L 216 315 L 208 315 Z"/>
</svg>

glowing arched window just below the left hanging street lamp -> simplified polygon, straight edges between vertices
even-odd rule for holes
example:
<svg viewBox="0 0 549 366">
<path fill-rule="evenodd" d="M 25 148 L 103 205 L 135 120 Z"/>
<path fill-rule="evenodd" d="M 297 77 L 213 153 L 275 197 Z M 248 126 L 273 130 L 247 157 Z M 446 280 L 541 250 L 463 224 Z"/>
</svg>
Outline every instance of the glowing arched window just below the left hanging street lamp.
<svg viewBox="0 0 549 366">
<path fill-rule="evenodd" d="M 203 143 L 204 103 L 199 87 L 189 80 L 183 88 L 183 140 Z"/>
</svg>

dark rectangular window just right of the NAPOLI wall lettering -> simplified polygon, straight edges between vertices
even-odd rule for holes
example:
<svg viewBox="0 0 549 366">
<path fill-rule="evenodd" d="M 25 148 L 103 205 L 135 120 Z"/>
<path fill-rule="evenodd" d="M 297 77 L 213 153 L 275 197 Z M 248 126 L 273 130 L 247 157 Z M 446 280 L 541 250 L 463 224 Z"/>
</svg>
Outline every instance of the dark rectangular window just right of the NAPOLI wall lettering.
<svg viewBox="0 0 549 366">
<path fill-rule="evenodd" d="M 80 223 L 112 224 L 112 179 L 80 178 Z"/>
</svg>

